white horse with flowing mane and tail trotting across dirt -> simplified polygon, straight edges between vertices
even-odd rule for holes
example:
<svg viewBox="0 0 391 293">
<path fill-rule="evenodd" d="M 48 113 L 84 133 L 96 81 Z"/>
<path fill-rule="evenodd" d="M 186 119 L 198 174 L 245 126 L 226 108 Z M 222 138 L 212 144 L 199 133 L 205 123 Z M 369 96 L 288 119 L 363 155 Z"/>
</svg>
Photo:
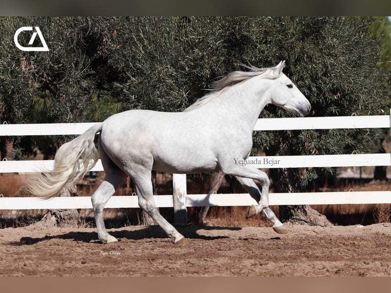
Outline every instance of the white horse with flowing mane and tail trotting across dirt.
<svg viewBox="0 0 391 293">
<path fill-rule="evenodd" d="M 32 183 L 31 192 L 40 197 L 55 197 L 68 181 L 81 179 L 101 158 L 105 180 L 91 197 L 99 239 L 105 243 L 117 241 L 106 230 L 103 209 L 119 184 L 130 176 L 139 206 L 178 243 L 184 236 L 155 206 L 151 170 L 177 174 L 221 170 L 235 176 L 257 201 L 258 205 L 249 208 L 248 217 L 263 211 L 276 232 L 286 233 L 268 208 L 267 175 L 235 162 L 250 155 L 254 126 L 267 104 L 300 116 L 307 115 L 311 105 L 282 73 L 284 61 L 270 68 L 243 66 L 250 71 L 234 71 L 214 82 L 211 93 L 183 112 L 130 110 L 91 127 L 58 149 L 53 171 L 41 174 Z M 94 138 L 98 133 L 96 150 Z M 261 190 L 254 179 L 261 183 Z"/>
</svg>

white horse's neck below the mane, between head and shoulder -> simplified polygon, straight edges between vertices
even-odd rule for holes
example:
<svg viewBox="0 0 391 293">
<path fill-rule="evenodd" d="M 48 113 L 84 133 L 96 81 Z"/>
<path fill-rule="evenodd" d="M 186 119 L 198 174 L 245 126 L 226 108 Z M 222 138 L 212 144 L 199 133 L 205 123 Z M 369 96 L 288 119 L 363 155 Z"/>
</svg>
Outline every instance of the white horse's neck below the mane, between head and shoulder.
<svg viewBox="0 0 391 293">
<path fill-rule="evenodd" d="M 214 103 L 203 107 L 210 107 L 209 110 L 215 111 L 216 115 L 220 113 L 230 119 L 240 121 L 252 131 L 259 114 L 270 103 L 266 95 L 270 83 L 264 82 L 265 86 L 262 87 L 259 85 L 261 81 L 262 79 L 254 78 L 226 89 Z"/>
</svg>

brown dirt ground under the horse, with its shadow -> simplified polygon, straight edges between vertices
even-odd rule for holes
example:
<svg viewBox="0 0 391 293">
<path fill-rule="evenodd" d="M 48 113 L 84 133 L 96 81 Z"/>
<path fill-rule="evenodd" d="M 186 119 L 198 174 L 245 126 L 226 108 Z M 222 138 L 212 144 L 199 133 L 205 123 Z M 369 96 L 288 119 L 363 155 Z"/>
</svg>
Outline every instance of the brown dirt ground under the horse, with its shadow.
<svg viewBox="0 0 391 293">
<path fill-rule="evenodd" d="M 369 226 L 158 226 L 0 229 L 0 276 L 391 276 L 391 224 Z"/>
</svg>

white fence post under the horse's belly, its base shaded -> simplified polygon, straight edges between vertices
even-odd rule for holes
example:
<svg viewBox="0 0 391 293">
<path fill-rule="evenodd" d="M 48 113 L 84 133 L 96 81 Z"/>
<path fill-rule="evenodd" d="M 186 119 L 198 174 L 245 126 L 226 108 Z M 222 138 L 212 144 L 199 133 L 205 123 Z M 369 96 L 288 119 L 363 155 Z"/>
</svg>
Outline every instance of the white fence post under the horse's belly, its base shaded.
<svg viewBox="0 0 391 293">
<path fill-rule="evenodd" d="M 173 174 L 174 224 L 187 225 L 186 174 Z"/>
</svg>

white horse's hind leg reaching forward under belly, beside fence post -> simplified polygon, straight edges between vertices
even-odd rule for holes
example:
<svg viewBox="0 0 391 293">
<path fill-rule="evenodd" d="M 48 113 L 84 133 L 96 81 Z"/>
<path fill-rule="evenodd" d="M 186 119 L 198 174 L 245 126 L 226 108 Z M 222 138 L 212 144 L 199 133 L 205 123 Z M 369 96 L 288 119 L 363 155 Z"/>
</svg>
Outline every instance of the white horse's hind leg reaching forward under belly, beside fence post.
<svg viewBox="0 0 391 293">
<path fill-rule="evenodd" d="M 183 235 L 179 233 L 173 225 L 169 224 L 156 208 L 152 191 L 151 170 L 146 170 L 141 176 L 140 174 L 137 174 L 137 177 L 133 178 L 133 181 L 136 185 L 138 205 L 140 208 L 154 219 L 168 237 L 174 238 L 174 243 L 183 240 Z"/>
</svg>

